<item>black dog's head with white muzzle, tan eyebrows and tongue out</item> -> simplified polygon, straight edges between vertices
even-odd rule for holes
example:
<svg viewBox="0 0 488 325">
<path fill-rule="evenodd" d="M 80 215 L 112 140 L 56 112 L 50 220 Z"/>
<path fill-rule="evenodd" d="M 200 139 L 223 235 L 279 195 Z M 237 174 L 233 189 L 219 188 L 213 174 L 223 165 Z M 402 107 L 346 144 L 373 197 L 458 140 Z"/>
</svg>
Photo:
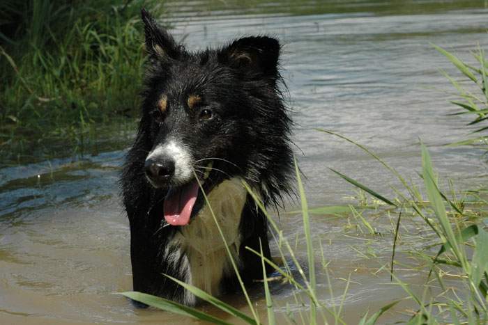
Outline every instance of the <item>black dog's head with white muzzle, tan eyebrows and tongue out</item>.
<svg viewBox="0 0 488 325">
<path fill-rule="evenodd" d="M 242 177 L 270 198 L 286 189 L 290 121 L 278 89 L 278 41 L 247 37 L 191 52 L 145 10 L 142 19 L 148 64 L 139 134 L 151 145 L 148 182 L 168 190 L 166 220 L 189 222 L 199 183 L 210 191 Z"/>
</svg>

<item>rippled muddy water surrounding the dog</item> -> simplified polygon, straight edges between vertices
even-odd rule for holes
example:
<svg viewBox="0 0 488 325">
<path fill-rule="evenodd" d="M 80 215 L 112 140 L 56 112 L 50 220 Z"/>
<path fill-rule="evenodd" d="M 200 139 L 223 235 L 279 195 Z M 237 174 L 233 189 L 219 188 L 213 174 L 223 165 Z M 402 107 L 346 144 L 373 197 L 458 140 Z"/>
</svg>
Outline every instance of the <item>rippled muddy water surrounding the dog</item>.
<svg viewBox="0 0 488 325">
<path fill-rule="evenodd" d="M 280 38 L 296 121 L 293 139 L 303 151 L 296 150 L 308 177 L 310 205 L 351 202 L 346 196 L 353 189 L 328 168 L 386 195 L 397 185 L 358 148 L 316 128 L 360 141 L 415 179 L 420 138 L 432 145 L 429 150 L 441 176 L 452 178 L 459 189 L 486 183 L 487 168 L 479 151 L 441 146 L 464 138 L 469 129 L 464 125 L 468 120 L 446 116 L 457 109 L 448 104 L 450 95 L 439 90 L 450 90 L 439 69 L 455 70 L 430 45 L 462 58 L 469 58 L 468 51 L 478 42 L 486 49 L 486 1 L 170 1 L 167 12 L 165 21 L 190 49 L 256 33 Z M 189 322 L 154 310 L 134 310 L 113 294 L 131 290 L 128 221 L 117 184 L 125 151 L 109 151 L 106 143 L 101 148 L 107 151 L 77 161 L 59 157 L 0 169 L 2 324 Z M 331 262 L 336 296 L 352 274 L 354 282 L 344 301 L 351 323 L 367 308 L 378 310 L 405 295 L 388 283 L 387 274 L 374 274 L 388 262 L 391 249 L 390 219 L 383 219 L 376 226 L 386 236 L 374 238 L 356 236 L 340 219 L 312 218 L 314 239 L 321 239 Z M 298 229 L 299 258 L 305 261 L 300 219 L 283 214 L 280 222 L 293 243 Z M 405 235 L 404 241 L 408 239 Z M 402 276 L 410 283 L 423 281 L 418 273 L 406 271 Z M 320 299 L 337 303 L 324 274 L 318 283 Z M 292 310 L 299 308 L 289 288 L 273 285 L 273 290 L 278 312 L 285 312 L 286 303 Z M 259 292 L 253 295 L 265 315 Z M 245 309 L 240 298 L 227 299 Z"/>
</svg>

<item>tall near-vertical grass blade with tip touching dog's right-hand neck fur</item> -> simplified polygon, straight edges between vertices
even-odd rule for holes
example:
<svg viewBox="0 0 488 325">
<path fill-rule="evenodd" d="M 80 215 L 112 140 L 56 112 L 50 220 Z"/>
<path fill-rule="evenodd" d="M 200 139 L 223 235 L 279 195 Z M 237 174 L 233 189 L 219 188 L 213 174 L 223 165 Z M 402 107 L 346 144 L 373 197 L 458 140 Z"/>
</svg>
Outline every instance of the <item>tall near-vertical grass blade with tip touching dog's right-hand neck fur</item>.
<svg viewBox="0 0 488 325">
<path fill-rule="evenodd" d="M 303 182 L 300 177 L 300 171 L 298 170 L 298 164 L 296 158 L 293 157 L 295 163 L 296 180 L 298 182 L 298 192 L 300 193 L 300 202 L 302 204 L 303 215 L 303 230 L 305 231 L 305 240 L 307 241 L 307 257 L 308 257 L 308 270 L 310 279 L 310 290 L 314 293 L 317 292 L 317 283 L 315 280 L 315 253 L 312 243 L 312 235 L 310 233 L 310 217 L 308 215 L 307 198 L 305 197 L 305 189 L 303 188 Z M 313 300 L 310 300 L 310 324 L 317 324 L 317 306 Z"/>
</svg>

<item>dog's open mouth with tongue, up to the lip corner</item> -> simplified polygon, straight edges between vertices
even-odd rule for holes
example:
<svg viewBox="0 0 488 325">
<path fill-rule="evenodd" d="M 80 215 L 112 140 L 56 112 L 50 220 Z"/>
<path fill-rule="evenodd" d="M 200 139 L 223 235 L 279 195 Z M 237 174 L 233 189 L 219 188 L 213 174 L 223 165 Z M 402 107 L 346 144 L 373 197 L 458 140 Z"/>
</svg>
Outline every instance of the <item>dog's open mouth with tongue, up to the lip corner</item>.
<svg viewBox="0 0 488 325">
<path fill-rule="evenodd" d="M 181 187 L 169 187 L 163 205 L 165 221 L 169 225 L 188 225 L 192 216 L 195 216 L 203 206 L 204 197 L 201 195 L 200 186 L 205 193 L 209 193 L 213 187 L 208 180 L 211 165 L 203 177 L 194 178 Z"/>
</svg>

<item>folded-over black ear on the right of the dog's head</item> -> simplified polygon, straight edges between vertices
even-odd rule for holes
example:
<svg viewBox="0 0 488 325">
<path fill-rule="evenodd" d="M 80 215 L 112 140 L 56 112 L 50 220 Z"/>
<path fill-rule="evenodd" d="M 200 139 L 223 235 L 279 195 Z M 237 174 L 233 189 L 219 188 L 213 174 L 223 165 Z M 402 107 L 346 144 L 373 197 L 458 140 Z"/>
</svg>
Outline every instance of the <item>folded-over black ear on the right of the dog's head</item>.
<svg viewBox="0 0 488 325">
<path fill-rule="evenodd" d="M 280 43 L 267 36 L 240 38 L 224 47 L 219 54 L 220 61 L 232 68 L 257 72 L 266 77 L 278 76 L 279 57 Z"/>
</svg>

